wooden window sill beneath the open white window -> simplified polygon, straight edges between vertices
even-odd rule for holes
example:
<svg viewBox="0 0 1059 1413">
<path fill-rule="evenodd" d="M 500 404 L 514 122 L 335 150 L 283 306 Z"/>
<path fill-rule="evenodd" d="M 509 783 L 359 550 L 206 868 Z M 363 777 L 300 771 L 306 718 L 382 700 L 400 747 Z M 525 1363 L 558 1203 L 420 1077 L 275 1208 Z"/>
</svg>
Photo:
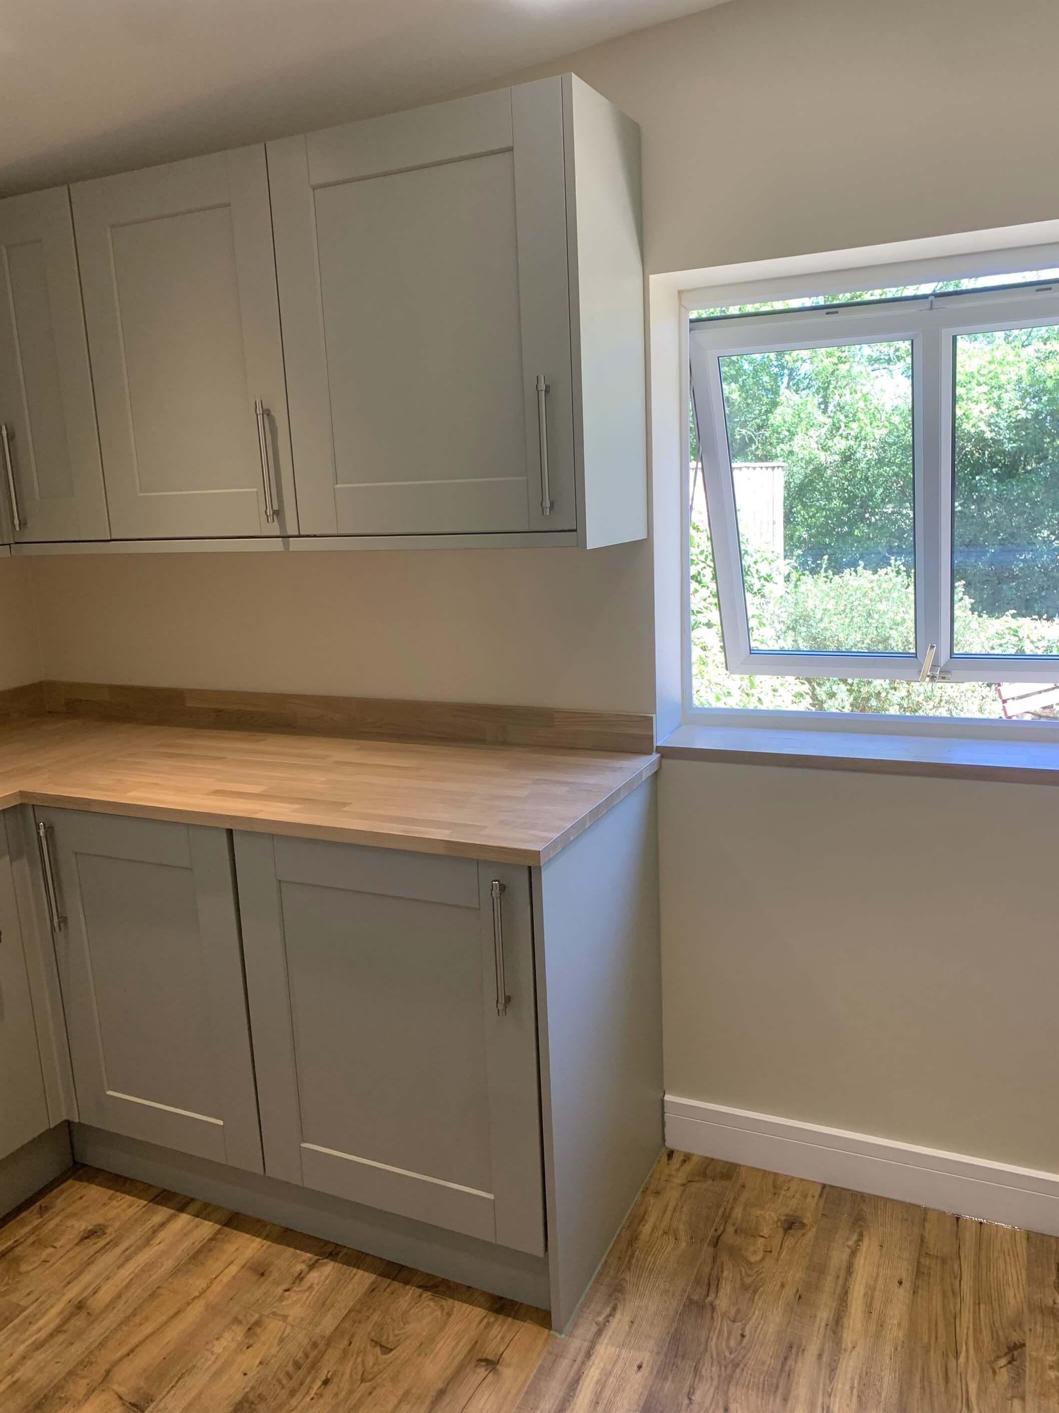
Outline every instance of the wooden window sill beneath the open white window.
<svg viewBox="0 0 1059 1413">
<path fill-rule="evenodd" d="M 679 726 L 658 753 L 706 764 L 1059 784 L 1059 740 L 983 740 L 760 726 Z"/>
</svg>

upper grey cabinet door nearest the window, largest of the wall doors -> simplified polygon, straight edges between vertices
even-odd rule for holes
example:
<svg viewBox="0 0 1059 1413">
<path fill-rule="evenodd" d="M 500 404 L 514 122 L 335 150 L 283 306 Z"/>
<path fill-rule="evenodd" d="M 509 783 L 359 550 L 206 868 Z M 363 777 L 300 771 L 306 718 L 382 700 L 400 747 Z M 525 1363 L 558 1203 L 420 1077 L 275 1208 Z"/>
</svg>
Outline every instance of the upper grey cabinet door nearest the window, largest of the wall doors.
<svg viewBox="0 0 1059 1413">
<path fill-rule="evenodd" d="M 561 81 L 270 143 L 268 174 L 302 533 L 575 528 Z"/>
</svg>

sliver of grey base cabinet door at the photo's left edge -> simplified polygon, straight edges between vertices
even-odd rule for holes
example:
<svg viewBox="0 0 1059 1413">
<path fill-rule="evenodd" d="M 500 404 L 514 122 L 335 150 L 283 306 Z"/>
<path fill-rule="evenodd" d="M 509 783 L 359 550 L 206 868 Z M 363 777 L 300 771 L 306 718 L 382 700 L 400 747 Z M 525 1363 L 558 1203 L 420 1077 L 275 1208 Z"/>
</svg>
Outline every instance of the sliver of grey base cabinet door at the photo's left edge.
<svg viewBox="0 0 1059 1413">
<path fill-rule="evenodd" d="M 48 1101 L 0 815 L 0 1159 L 47 1128 Z"/>
</svg>

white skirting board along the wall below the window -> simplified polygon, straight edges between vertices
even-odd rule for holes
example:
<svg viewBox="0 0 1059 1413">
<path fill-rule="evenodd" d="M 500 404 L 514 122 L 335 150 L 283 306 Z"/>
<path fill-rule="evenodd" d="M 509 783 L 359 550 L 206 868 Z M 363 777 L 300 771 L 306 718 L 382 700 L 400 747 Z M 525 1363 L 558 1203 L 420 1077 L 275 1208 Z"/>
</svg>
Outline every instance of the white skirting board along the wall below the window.
<svg viewBox="0 0 1059 1413">
<path fill-rule="evenodd" d="M 665 1096 L 666 1147 L 1059 1236 L 1059 1173 Z"/>
</svg>

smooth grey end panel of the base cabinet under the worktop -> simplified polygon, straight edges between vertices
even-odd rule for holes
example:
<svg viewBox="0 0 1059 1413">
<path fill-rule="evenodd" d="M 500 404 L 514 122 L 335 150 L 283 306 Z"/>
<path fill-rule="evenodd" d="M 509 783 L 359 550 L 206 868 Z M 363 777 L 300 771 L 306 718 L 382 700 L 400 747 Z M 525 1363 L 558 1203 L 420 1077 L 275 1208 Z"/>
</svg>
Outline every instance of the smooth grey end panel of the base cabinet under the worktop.
<svg viewBox="0 0 1059 1413">
<path fill-rule="evenodd" d="M 552 1324 L 662 1147 L 655 781 L 534 870 Z"/>
</svg>

